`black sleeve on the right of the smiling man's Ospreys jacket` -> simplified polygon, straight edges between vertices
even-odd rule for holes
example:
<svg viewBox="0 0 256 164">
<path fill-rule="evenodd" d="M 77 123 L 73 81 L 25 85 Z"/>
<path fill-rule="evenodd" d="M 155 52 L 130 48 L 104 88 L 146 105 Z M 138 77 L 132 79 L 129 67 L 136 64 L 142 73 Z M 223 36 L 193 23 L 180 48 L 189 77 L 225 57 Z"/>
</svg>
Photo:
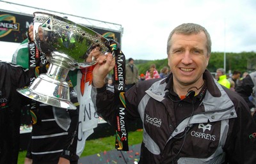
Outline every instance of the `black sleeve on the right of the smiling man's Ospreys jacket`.
<svg viewBox="0 0 256 164">
<path fill-rule="evenodd" d="M 243 98 L 233 101 L 237 117 L 229 120 L 227 141 L 223 149 L 228 163 L 256 163 L 256 123 Z"/>
</svg>

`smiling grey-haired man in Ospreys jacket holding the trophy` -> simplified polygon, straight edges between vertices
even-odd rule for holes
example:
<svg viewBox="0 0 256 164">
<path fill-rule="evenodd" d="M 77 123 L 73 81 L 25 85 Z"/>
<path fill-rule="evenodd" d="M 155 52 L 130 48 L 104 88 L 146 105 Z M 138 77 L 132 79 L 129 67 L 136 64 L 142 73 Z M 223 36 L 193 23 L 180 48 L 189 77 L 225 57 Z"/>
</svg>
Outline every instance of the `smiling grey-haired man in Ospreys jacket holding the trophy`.
<svg viewBox="0 0 256 164">
<path fill-rule="evenodd" d="M 138 82 L 125 93 L 125 117 L 143 122 L 139 164 L 256 163 L 256 123 L 246 101 L 207 70 L 207 30 L 192 23 L 175 27 L 167 54 L 167 78 Z M 115 95 L 105 81 L 115 59 L 111 53 L 96 58 L 92 100 L 97 113 L 115 125 Z"/>
</svg>

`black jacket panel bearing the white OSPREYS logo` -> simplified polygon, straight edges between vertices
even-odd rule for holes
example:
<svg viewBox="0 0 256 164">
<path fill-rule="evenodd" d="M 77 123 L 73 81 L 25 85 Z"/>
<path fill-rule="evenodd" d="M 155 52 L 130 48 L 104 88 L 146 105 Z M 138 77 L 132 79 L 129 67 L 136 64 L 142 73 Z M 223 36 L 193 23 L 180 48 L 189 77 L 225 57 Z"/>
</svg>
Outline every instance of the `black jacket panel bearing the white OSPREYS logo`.
<svg viewBox="0 0 256 164">
<path fill-rule="evenodd" d="M 186 134 L 180 133 L 168 141 L 163 158 L 209 158 L 219 147 L 220 128 L 221 122 L 193 124 Z"/>
</svg>

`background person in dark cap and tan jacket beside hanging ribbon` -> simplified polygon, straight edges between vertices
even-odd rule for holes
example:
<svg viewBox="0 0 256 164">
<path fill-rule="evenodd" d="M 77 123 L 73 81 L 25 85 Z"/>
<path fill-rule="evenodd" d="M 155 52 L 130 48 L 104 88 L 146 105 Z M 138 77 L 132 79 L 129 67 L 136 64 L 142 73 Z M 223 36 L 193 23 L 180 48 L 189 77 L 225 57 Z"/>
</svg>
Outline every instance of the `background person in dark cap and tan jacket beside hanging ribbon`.
<svg viewBox="0 0 256 164">
<path fill-rule="evenodd" d="M 137 66 L 134 64 L 134 60 L 132 58 L 128 59 L 128 62 L 125 65 L 125 87 L 126 91 L 130 89 L 134 84 L 137 84 L 139 81 L 139 70 Z"/>
</svg>

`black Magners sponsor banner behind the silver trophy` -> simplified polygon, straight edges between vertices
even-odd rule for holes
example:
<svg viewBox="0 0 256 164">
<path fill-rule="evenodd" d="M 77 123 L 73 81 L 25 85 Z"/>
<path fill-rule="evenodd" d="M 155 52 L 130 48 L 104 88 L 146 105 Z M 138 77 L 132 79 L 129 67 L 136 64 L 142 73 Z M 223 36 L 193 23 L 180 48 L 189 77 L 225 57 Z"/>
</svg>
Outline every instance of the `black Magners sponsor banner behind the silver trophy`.
<svg viewBox="0 0 256 164">
<path fill-rule="evenodd" d="M 21 43 L 27 38 L 26 32 L 30 24 L 33 24 L 33 15 L 21 15 L 12 12 L 0 11 L 0 41 Z M 79 22 L 76 22 L 79 24 Z M 85 25 L 84 25 L 85 26 Z M 101 34 L 105 38 L 111 38 L 121 42 L 121 32 L 100 27 L 86 26 L 93 31 Z"/>
</svg>

